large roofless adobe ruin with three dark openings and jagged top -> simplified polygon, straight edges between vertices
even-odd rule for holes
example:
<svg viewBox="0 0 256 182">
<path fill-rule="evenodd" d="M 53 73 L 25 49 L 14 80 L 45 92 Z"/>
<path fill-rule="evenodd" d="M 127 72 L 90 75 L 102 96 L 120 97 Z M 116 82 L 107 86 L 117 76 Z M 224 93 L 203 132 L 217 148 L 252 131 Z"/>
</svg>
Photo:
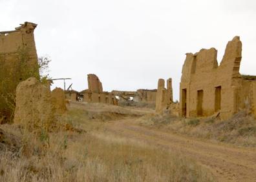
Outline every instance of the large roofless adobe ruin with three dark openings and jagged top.
<svg viewBox="0 0 256 182">
<path fill-rule="evenodd" d="M 256 116 L 256 77 L 239 73 L 242 43 L 234 37 L 218 65 L 215 48 L 186 54 L 180 82 L 180 109 L 183 117 L 211 116 L 226 119 L 244 108 Z"/>
</svg>

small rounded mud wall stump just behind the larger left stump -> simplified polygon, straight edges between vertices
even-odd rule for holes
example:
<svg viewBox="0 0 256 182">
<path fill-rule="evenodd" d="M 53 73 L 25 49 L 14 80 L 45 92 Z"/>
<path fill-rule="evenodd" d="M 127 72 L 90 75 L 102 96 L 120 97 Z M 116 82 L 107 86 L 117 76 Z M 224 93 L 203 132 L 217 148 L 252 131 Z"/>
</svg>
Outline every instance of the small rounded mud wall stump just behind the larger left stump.
<svg viewBox="0 0 256 182">
<path fill-rule="evenodd" d="M 61 88 L 52 90 L 52 104 L 57 112 L 65 112 L 67 110 L 65 92 Z"/>
</svg>

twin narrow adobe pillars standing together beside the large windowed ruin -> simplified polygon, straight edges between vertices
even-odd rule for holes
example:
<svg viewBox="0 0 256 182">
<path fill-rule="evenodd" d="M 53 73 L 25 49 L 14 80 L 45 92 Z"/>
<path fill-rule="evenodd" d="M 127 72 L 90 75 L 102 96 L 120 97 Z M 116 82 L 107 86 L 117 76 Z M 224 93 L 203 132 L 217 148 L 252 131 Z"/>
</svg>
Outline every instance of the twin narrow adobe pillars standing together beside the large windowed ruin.
<svg viewBox="0 0 256 182">
<path fill-rule="evenodd" d="M 172 79 L 167 79 L 167 88 L 165 88 L 164 79 L 158 80 L 157 92 L 156 92 L 156 112 L 160 113 L 164 109 L 169 108 L 173 103 L 173 86 Z"/>
</svg>

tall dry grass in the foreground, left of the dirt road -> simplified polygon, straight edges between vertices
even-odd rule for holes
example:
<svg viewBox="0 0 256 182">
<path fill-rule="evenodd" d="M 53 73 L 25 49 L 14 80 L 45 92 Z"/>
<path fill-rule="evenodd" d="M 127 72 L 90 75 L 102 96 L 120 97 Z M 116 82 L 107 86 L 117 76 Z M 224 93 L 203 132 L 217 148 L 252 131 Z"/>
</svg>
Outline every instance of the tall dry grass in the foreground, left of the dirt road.
<svg viewBox="0 0 256 182">
<path fill-rule="evenodd" d="M 109 134 L 85 110 L 71 109 L 59 122 L 87 132 L 60 130 L 35 138 L 3 126 L 21 138 L 21 147 L 0 152 L 0 181 L 214 181 L 191 159 Z"/>
</svg>

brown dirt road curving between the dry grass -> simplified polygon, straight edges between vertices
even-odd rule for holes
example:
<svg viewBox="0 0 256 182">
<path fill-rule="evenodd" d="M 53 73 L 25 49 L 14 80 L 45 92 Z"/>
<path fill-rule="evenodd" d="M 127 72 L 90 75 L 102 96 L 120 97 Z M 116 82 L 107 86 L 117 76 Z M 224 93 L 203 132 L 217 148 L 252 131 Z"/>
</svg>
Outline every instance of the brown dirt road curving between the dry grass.
<svg viewBox="0 0 256 182">
<path fill-rule="evenodd" d="M 219 145 L 146 128 L 138 125 L 132 117 L 113 121 L 106 128 L 118 136 L 189 156 L 209 168 L 219 181 L 256 181 L 256 150 Z"/>
</svg>

